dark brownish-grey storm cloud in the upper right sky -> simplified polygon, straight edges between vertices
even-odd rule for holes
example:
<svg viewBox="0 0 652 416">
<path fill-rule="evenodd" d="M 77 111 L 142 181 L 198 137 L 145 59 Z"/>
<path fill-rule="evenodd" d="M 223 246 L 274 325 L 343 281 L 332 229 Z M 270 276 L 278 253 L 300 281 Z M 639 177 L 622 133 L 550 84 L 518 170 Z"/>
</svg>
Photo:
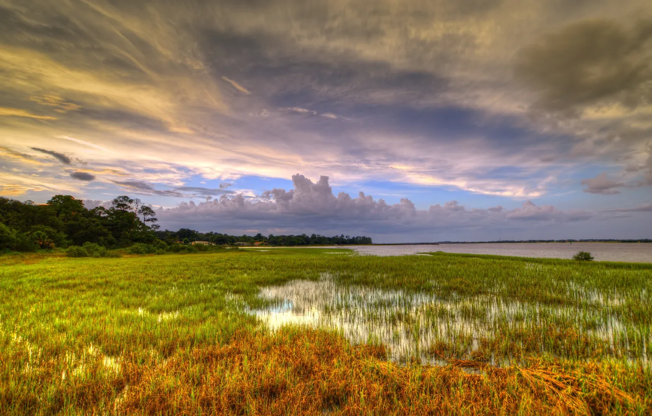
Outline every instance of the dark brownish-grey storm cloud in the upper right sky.
<svg viewBox="0 0 652 416">
<path fill-rule="evenodd" d="M 613 100 L 627 107 L 652 99 L 652 20 L 572 23 L 519 54 L 516 75 L 541 93 L 546 110 Z"/>
</svg>

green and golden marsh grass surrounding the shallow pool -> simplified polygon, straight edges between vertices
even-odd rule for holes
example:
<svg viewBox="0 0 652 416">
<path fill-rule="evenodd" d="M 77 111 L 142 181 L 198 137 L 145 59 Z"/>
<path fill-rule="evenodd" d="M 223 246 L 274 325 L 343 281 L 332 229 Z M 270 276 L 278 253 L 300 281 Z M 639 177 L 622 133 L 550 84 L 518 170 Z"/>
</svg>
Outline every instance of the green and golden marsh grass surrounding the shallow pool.
<svg viewBox="0 0 652 416">
<path fill-rule="evenodd" d="M 334 251 L 0 258 L 0 414 L 652 411 L 650 265 Z M 424 346 L 439 366 L 388 361 L 384 346 L 337 331 L 270 332 L 248 313 L 270 302 L 261 286 L 325 273 L 346 287 L 434 293 L 451 305 L 438 319 L 482 323 L 487 297 L 529 306 L 492 321 L 475 347 Z M 610 319 L 606 339 L 597 329 Z"/>
</svg>

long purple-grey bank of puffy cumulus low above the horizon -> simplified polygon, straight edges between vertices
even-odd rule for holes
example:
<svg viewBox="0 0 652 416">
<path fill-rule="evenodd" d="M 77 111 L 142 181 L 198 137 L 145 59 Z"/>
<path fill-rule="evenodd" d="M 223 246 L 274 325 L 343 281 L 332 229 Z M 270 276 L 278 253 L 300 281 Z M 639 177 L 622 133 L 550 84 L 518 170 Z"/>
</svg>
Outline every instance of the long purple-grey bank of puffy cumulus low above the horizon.
<svg viewBox="0 0 652 416">
<path fill-rule="evenodd" d="M 180 203 L 175 208 L 157 213 L 158 218 L 166 226 L 201 224 L 204 230 L 209 226 L 261 230 L 362 229 L 382 234 L 477 228 L 512 222 L 578 222 L 593 217 L 593 213 L 587 211 L 562 211 L 551 205 L 538 207 L 531 201 L 524 203 L 522 208 L 511 210 L 466 209 L 458 201 L 417 209 L 408 198 L 390 205 L 363 192 L 359 192 L 356 198 L 345 192 L 335 196 L 327 176 L 313 182 L 296 174 L 292 182 L 292 189 L 274 188 L 264 192 L 257 201 L 247 200 L 242 194 L 222 195 L 201 203 Z"/>
</svg>

